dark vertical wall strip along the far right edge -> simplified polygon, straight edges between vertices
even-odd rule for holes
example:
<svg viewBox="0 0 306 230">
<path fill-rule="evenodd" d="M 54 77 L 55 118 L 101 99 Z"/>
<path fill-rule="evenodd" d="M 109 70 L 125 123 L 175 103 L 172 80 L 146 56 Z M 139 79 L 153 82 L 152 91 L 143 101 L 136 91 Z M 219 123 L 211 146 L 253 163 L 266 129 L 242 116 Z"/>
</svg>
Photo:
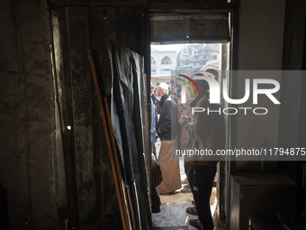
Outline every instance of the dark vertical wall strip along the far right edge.
<svg viewBox="0 0 306 230">
<path fill-rule="evenodd" d="M 305 70 L 306 61 L 306 2 L 294 0 L 286 2 L 285 22 L 284 22 L 284 53 L 283 69 L 285 70 Z M 306 146 L 306 76 L 298 74 L 295 76 L 284 75 L 282 78 L 282 106 L 279 122 L 279 143 L 281 147 Z M 303 172 L 303 161 L 281 161 L 280 170 L 293 179 L 298 186 L 297 213 L 302 213 L 306 200 L 306 192 L 303 185 L 305 177 Z"/>
</svg>

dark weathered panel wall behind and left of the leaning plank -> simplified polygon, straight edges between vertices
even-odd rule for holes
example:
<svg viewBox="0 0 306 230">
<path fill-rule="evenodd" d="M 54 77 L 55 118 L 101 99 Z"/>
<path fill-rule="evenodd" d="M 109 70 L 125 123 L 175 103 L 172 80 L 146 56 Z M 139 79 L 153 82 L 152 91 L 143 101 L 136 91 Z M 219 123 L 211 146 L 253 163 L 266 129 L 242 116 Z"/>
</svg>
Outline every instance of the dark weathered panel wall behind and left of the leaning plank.
<svg viewBox="0 0 306 230">
<path fill-rule="evenodd" d="M 109 45 L 118 43 L 143 55 L 145 11 L 138 5 L 51 5 L 51 9 L 70 226 L 120 229 L 87 50 L 97 51 L 103 87 L 111 94 Z"/>
</svg>

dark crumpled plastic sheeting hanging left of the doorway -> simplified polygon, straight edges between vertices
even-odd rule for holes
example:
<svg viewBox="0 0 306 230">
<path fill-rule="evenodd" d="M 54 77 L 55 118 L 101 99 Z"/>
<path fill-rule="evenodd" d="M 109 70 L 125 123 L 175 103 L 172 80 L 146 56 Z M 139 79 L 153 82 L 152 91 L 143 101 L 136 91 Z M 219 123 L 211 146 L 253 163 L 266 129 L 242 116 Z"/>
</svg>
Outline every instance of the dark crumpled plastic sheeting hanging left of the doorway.
<svg viewBox="0 0 306 230">
<path fill-rule="evenodd" d="M 143 111 L 146 100 L 143 57 L 119 46 L 112 46 L 112 125 L 123 164 L 124 179 L 130 189 L 136 229 L 150 228 L 147 154 L 143 140 L 148 140 Z"/>
</svg>

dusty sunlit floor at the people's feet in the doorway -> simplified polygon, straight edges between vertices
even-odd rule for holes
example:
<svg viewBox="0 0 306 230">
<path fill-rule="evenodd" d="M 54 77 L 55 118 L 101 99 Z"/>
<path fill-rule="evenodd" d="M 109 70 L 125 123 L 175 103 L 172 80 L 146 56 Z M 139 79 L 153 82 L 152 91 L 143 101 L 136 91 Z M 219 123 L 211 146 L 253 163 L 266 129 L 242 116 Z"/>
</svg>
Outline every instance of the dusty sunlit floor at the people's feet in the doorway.
<svg viewBox="0 0 306 230">
<path fill-rule="evenodd" d="M 156 147 L 159 152 L 159 141 Z M 180 161 L 181 179 L 185 179 L 184 161 Z M 182 189 L 185 184 L 182 185 Z M 189 225 L 190 219 L 197 219 L 198 216 L 189 215 L 186 213 L 186 207 L 192 207 L 193 194 L 191 192 L 183 193 L 181 189 L 176 190 L 174 195 L 160 195 L 161 207 L 159 213 L 152 214 L 153 229 L 166 230 L 193 230 L 196 229 Z M 211 191 L 211 214 L 215 213 L 217 207 L 216 188 Z M 215 230 L 228 230 L 224 223 L 220 223 L 216 215 L 213 216 Z"/>
</svg>

